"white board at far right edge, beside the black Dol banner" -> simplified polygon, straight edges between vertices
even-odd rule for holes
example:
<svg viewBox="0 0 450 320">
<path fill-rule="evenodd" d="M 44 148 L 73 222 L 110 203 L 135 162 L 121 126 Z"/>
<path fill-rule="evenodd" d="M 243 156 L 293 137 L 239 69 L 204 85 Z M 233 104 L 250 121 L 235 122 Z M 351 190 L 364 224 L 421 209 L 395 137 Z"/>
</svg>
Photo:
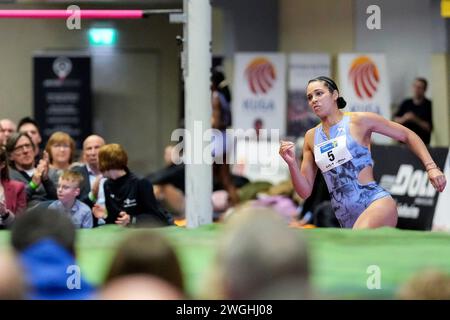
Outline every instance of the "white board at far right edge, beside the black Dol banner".
<svg viewBox="0 0 450 320">
<path fill-rule="evenodd" d="M 447 186 L 444 191 L 439 194 L 436 204 L 436 212 L 434 214 L 433 229 L 450 231 L 450 152 L 445 161 L 445 167 L 442 168 L 447 178 Z"/>
</svg>

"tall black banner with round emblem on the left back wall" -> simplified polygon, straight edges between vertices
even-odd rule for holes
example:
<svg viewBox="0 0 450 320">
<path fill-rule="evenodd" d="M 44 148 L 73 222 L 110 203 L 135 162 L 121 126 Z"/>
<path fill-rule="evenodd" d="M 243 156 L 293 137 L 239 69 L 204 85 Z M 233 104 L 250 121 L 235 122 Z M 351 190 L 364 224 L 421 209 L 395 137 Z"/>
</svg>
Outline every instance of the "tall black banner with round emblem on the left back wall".
<svg viewBox="0 0 450 320">
<path fill-rule="evenodd" d="M 55 131 L 68 133 L 81 148 L 92 132 L 91 58 L 39 54 L 34 59 L 34 118 L 43 144 Z"/>
</svg>

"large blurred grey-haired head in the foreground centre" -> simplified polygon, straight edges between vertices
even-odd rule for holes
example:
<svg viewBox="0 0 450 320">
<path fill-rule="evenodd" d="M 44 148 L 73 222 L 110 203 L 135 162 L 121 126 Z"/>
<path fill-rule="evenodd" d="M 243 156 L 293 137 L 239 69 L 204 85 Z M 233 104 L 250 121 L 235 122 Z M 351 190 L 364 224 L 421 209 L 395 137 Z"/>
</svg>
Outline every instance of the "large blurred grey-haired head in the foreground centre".
<svg viewBox="0 0 450 320">
<path fill-rule="evenodd" d="M 211 298 L 311 298 L 305 239 L 270 209 L 244 208 L 227 220 L 217 268 Z"/>
</svg>

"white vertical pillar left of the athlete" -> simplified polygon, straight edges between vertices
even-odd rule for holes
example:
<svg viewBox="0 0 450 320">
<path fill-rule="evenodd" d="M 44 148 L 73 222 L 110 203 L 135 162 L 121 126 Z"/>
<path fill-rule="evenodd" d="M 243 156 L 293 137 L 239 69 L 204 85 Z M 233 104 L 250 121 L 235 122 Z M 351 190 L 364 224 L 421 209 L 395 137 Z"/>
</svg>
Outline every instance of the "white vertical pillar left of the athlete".
<svg viewBox="0 0 450 320">
<path fill-rule="evenodd" d="M 203 159 L 203 132 L 211 127 L 211 4 L 209 0 L 184 0 L 185 140 L 187 227 L 212 222 L 212 168 Z M 202 127 L 200 130 L 199 127 Z"/>
</svg>

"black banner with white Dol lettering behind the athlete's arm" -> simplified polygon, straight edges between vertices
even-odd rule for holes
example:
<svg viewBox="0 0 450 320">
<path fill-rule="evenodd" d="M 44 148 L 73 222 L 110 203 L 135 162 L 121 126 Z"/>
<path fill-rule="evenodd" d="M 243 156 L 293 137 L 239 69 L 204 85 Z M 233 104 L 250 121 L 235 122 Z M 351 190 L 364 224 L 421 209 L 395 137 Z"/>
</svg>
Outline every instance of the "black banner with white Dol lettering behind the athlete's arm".
<svg viewBox="0 0 450 320">
<path fill-rule="evenodd" d="M 405 146 L 373 145 L 375 180 L 397 201 L 400 229 L 431 230 L 439 193 L 428 180 L 423 164 Z M 443 167 L 448 148 L 429 148 Z"/>
</svg>

